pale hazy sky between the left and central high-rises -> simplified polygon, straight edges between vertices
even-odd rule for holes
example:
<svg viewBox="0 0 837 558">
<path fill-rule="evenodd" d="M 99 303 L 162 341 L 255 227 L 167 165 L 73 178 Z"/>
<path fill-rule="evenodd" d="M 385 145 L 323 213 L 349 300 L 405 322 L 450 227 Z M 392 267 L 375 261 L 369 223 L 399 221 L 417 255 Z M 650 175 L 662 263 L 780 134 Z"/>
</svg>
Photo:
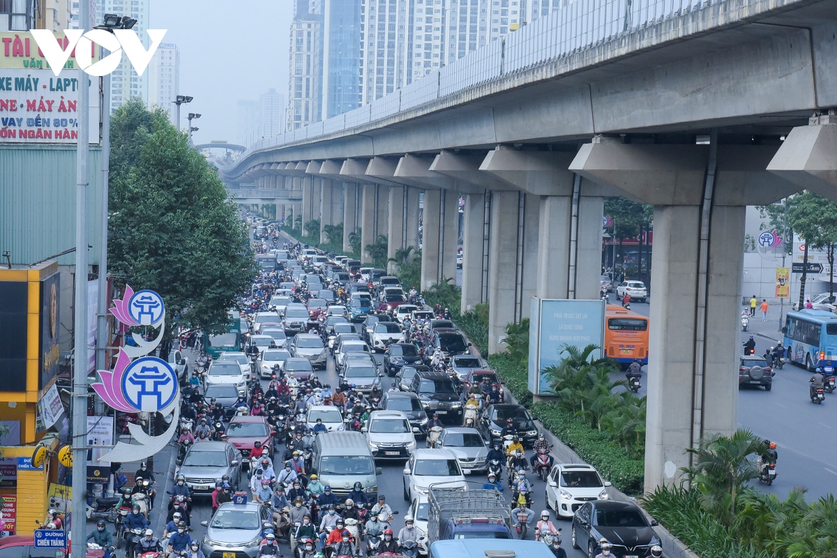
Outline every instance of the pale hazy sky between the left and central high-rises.
<svg viewBox="0 0 837 558">
<path fill-rule="evenodd" d="M 195 99 L 195 143 L 235 141 L 238 101 L 288 95 L 291 0 L 151 0 L 150 26 L 180 50 L 180 93 Z"/>
</svg>

